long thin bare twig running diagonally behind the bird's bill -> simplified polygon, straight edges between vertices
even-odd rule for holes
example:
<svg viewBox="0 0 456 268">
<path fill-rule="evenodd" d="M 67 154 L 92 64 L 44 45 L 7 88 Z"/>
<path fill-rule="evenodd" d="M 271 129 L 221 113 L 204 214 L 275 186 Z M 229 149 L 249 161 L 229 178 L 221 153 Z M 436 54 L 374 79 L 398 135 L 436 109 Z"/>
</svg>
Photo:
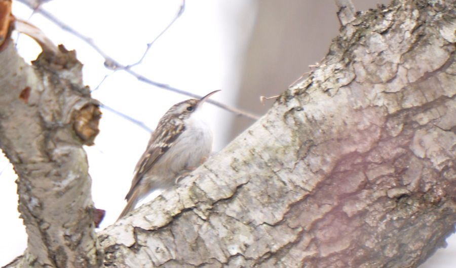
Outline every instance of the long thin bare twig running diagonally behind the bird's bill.
<svg viewBox="0 0 456 268">
<path fill-rule="evenodd" d="M 184 91 L 184 90 L 180 90 L 180 89 L 177 89 L 177 88 L 174 88 L 174 87 L 171 87 L 169 85 L 166 85 L 166 84 L 163 84 L 163 83 L 159 83 L 159 82 L 155 82 L 155 81 L 152 81 L 150 79 L 147 79 L 145 78 L 145 76 L 143 75 L 140 75 L 138 73 L 136 73 L 135 71 L 131 70 L 129 66 L 126 66 L 126 65 L 123 65 L 123 64 L 120 64 L 118 61 L 116 61 L 115 59 L 109 57 L 107 54 L 105 54 L 97 45 L 95 45 L 95 43 L 93 42 L 92 39 L 90 39 L 89 37 L 79 33 L 78 31 L 74 30 L 73 28 L 71 28 L 69 25 L 65 24 L 64 22 L 62 22 L 61 20 L 59 20 L 58 18 L 56 18 L 54 15 L 52 15 L 51 13 L 47 12 L 46 10 L 42 9 L 41 7 L 37 7 L 35 8 L 32 4 L 31 4 L 31 1 L 30 0 L 17 0 L 21 3 L 24 3 L 25 5 L 27 5 L 29 8 L 32 8 L 35 10 L 36 13 L 40 13 L 41 15 L 43 15 L 45 18 L 49 19 L 50 21 L 52 21 L 54 24 L 56 24 L 57 26 L 59 26 L 60 28 L 62 28 L 63 30 L 77 36 L 79 39 L 83 40 L 84 42 L 86 42 L 89 46 L 91 46 L 98 54 L 100 54 L 104 59 L 105 59 L 105 62 L 104 62 L 104 65 L 109 68 L 109 69 L 112 69 L 112 70 L 124 70 L 134 76 L 136 76 L 136 78 L 139 80 L 139 81 L 142 81 L 144 83 L 147 83 L 149 85 L 153 85 L 153 86 L 156 86 L 156 87 L 159 87 L 159 88 L 163 88 L 165 90 L 169 90 L 169 91 L 172 91 L 172 92 L 175 92 L 175 93 L 179 93 L 179 94 L 182 94 L 182 95 L 186 95 L 186 96 L 189 96 L 189 97 L 192 97 L 192 98 L 200 98 L 201 96 L 199 95 L 196 95 L 196 94 L 193 94 L 191 92 L 187 92 L 187 91 Z M 184 3 L 184 2 L 183 2 Z M 180 13 L 183 12 L 184 8 L 182 8 L 182 6 L 180 7 L 179 9 L 179 12 L 177 13 L 178 16 L 180 16 Z M 171 22 L 171 24 L 174 22 L 174 20 Z M 169 28 L 169 26 L 167 27 Z M 162 33 L 161 33 L 162 34 Z M 161 35 L 160 34 L 160 35 Z M 153 41 L 155 42 L 155 41 Z M 152 42 L 152 43 L 153 43 Z M 147 53 L 147 51 L 146 51 Z M 252 120 L 258 120 L 259 119 L 259 116 L 257 116 L 256 114 L 252 114 L 250 112 L 247 112 L 247 111 L 243 111 L 241 109 L 238 109 L 238 108 L 235 108 L 233 106 L 230 106 L 230 105 L 226 105 L 226 104 L 223 104 L 223 103 L 220 103 L 220 102 L 217 102 L 217 101 L 214 101 L 214 100 L 211 100 L 209 99 L 207 101 L 208 103 L 211 103 L 215 106 L 218 106 L 222 109 L 225 109 L 227 111 L 230 111 L 230 112 L 233 112 L 235 114 L 237 114 L 238 116 L 243 116 L 243 117 L 246 117 L 246 118 L 249 118 L 249 119 L 252 119 Z"/>
</svg>

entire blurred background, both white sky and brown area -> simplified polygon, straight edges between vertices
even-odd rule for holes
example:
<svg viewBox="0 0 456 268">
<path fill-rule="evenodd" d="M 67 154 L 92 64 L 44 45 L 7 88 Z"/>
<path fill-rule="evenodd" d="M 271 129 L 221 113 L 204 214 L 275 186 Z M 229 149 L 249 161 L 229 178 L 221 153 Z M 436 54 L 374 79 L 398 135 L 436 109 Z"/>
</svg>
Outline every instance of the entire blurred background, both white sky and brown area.
<svg viewBox="0 0 456 268">
<path fill-rule="evenodd" d="M 354 1 L 359 10 L 373 8 L 375 2 Z M 105 54 L 131 64 L 173 19 L 180 5 L 180 0 L 54 0 L 42 8 L 89 36 Z M 259 95 L 284 91 L 308 70 L 307 65 L 325 55 L 338 29 L 335 11 L 332 0 L 188 0 L 182 16 L 133 70 L 199 95 L 221 89 L 211 98 L 262 114 L 272 102 L 260 105 Z M 32 10 L 24 4 L 14 2 L 13 14 L 29 19 L 55 44 L 75 49 L 84 64 L 84 82 L 96 89 L 93 97 L 150 129 L 171 105 L 188 98 L 140 82 L 125 71 L 106 69 L 103 57 L 93 48 L 42 15 L 31 16 Z M 28 37 L 13 37 L 26 61 L 40 53 Z M 211 104 L 205 109 L 214 131 L 214 151 L 252 123 Z M 133 169 L 149 138 L 147 131 L 131 121 L 110 110 L 102 112 L 95 145 L 86 147 L 93 200 L 97 208 L 106 210 L 101 228 L 113 223 L 125 206 Z M 26 247 L 15 179 L 8 160 L 0 157 L 0 266 Z M 450 247 L 439 250 L 422 267 L 454 268 L 455 236 L 448 242 Z"/>
</svg>

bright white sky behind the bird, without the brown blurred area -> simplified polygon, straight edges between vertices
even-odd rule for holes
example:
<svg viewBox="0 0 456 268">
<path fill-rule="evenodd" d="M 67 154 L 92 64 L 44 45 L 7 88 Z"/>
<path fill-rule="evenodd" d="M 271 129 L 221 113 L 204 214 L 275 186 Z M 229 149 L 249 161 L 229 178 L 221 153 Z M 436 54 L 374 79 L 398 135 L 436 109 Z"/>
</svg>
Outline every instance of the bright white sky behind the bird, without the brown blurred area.
<svg viewBox="0 0 456 268">
<path fill-rule="evenodd" d="M 107 55 L 122 64 L 136 62 L 179 9 L 179 0 L 54 0 L 43 8 L 74 29 L 89 36 Z M 242 72 L 239 55 L 247 45 L 255 19 L 255 1 L 188 0 L 183 15 L 151 47 L 142 64 L 133 69 L 147 78 L 199 95 L 222 91 L 211 98 L 233 104 L 238 74 Z M 13 14 L 26 20 L 31 10 L 13 2 Z M 335 14 L 334 14 L 335 16 Z M 86 43 L 61 30 L 39 14 L 29 20 L 42 29 L 55 44 L 75 49 L 84 64 L 84 83 L 95 89 L 105 74 L 104 59 Z M 239 27 L 241 25 L 241 27 Z M 15 37 L 15 36 L 13 36 Z M 30 61 L 40 52 L 28 37 L 19 37 L 18 50 Z M 93 92 L 93 97 L 154 129 L 160 117 L 174 103 L 188 99 L 137 81 L 118 71 Z M 205 105 L 214 131 L 214 151 L 227 141 L 224 133 L 234 117 L 213 105 Z M 95 145 L 86 147 L 92 176 L 95 206 L 106 210 L 101 227 L 112 224 L 125 206 L 133 169 L 147 144 L 149 133 L 137 125 L 102 110 L 100 134 Z M 7 264 L 26 248 L 26 234 L 17 212 L 16 175 L 8 161 L 0 157 L 0 266 Z M 451 247 L 439 250 L 425 268 L 456 267 L 456 237 Z"/>
</svg>

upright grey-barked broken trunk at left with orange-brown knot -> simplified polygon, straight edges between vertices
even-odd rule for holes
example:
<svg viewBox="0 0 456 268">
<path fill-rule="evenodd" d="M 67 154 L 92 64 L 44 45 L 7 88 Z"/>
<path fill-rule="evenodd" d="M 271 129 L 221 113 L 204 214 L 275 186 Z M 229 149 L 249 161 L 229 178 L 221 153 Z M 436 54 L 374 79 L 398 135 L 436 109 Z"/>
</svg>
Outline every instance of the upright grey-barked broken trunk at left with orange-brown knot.
<svg viewBox="0 0 456 268">
<path fill-rule="evenodd" d="M 63 46 L 32 66 L 0 53 L 0 144 L 18 174 L 28 247 L 18 267 L 99 267 L 91 179 L 82 145 L 98 133 L 98 103 Z"/>
</svg>

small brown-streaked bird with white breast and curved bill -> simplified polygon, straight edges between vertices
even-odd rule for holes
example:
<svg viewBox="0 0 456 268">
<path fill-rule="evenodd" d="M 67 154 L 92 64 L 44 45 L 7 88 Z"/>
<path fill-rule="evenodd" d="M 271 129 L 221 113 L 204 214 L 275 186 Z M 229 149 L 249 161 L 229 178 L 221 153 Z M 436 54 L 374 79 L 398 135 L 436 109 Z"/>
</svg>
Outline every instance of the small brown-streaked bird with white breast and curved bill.
<svg viewBox="0 0 456 268">
<path fill-rule="evenodd" d="M 135 167 L 127 205 L 119 219 L 156 189 L 166 189 L 200 166 L 212 151 L 212 131 L 201 116 L 201 99 L 174 104 L 159 120 L 147 147 Z"/>
</svg>

